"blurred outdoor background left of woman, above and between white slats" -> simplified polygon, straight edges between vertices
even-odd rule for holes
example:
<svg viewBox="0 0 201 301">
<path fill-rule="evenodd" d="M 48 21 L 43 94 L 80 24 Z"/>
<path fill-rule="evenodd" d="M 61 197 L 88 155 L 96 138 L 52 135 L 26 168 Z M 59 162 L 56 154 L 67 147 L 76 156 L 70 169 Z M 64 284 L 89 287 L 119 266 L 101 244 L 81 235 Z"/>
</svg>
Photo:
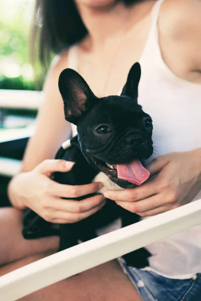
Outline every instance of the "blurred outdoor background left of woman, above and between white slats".
<svg viewBox="0 0 201 301">
<path fill-rule="evenodd" d="M 35 90 L 33 68 L 29 56 L 29 33 L 34 2 L 35 0 L 0 0 L 0 89 Z M 41 79 L 39 89 L 42 84 Z M 3 94 L 0 95 L 3 97 Z M 3 123 L 0 122 L 0 138 L 2 133 L 8 132 L 8 135 L 9 133 L 12 135 L 12 131 L 21 127 L 25 128 L 34 121 L 37 114 L 37 111 L 33 110 L 12 108 L 2 110 L 0 108 L 0 117 L 2 112 L 6 114 L 6 119 Z M 1 118 L 0 121 L 2 121 Z M 0 143 L 0 156 L 21 159 L 25 143 L 21 146 L 22 143 L 20 144 L 19 141 L 16 140 L 11 148 L 9 148 L 10 144 L 5 146 L 6 143 Z M 15 156 L 19 153 L 19 149 L 20 155 L 17 158 Z M 0 175 L 1 206 L 8 204 L 9 181 L 10 177 Z"/>
</svg>

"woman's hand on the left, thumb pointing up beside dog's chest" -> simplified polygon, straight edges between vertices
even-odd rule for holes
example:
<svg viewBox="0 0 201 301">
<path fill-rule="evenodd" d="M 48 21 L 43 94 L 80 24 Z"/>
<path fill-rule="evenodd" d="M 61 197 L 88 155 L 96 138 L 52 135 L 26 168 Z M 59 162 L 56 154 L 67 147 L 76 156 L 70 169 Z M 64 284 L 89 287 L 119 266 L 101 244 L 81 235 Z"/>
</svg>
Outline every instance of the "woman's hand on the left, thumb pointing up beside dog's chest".
<svg viewBox="0 0 201 301">
<path fill-rule="evenodd" d="M 45 160 L 31 172 L 16 176 L 10 184 L 9 195 L 14 206 L 29 207 L 48 222 L 75 223 L 98 211 L 105 204 L 103 195 L 82 201 L 64 200 L 94 193 L 102 183 L 70 186 L 50 179 L 54 172 L 68 172 L 73 162 Z"/>
</svg>

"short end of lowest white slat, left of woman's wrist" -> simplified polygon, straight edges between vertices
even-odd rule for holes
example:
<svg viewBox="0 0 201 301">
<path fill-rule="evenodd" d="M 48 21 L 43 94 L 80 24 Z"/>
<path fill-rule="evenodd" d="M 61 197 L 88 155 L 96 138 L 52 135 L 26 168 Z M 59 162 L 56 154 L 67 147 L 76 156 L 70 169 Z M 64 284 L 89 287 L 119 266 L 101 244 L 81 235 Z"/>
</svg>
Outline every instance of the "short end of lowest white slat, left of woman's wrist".
<svg viewBox="0 0 201 301">
<path fill-rule="evenodd" d="M 0 175 L 13 177 L 20 172 L 21 160 L 0 157 Z"/>
</svg>

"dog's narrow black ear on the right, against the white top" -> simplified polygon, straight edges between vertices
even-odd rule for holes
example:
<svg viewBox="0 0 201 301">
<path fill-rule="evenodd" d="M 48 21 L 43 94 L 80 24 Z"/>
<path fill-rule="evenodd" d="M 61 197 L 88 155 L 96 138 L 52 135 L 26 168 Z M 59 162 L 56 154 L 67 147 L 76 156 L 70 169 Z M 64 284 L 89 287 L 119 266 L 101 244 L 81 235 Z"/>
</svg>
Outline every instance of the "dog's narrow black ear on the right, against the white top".
<svg viewBox="0 0 201 301">
<path fill-rule="evenodd" d="M 122 90 L 122 96 L 129 96 L 134 99 L 136 102 L 138 101 L 138 84 L 141 77 L 141 67 L 139 63 L 135 63 L 127 77 L 127 82 Z"/>
</svg>

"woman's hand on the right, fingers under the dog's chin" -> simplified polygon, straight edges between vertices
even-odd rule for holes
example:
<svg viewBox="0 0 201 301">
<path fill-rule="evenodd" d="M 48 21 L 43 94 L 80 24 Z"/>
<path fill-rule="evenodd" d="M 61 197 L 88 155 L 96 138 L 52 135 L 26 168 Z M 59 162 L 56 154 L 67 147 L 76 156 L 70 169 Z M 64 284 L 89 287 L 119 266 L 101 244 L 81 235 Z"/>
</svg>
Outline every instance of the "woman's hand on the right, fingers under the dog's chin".
<svg viewBox="0 0 201 301">
<path fill-rule="evenodd" d="M 201 189 L 201 148 L 158 157 L 146 168 L 154 176 L 147 183 L 105 197 L 144 217 L 187 204 Z"/>
</svg>

